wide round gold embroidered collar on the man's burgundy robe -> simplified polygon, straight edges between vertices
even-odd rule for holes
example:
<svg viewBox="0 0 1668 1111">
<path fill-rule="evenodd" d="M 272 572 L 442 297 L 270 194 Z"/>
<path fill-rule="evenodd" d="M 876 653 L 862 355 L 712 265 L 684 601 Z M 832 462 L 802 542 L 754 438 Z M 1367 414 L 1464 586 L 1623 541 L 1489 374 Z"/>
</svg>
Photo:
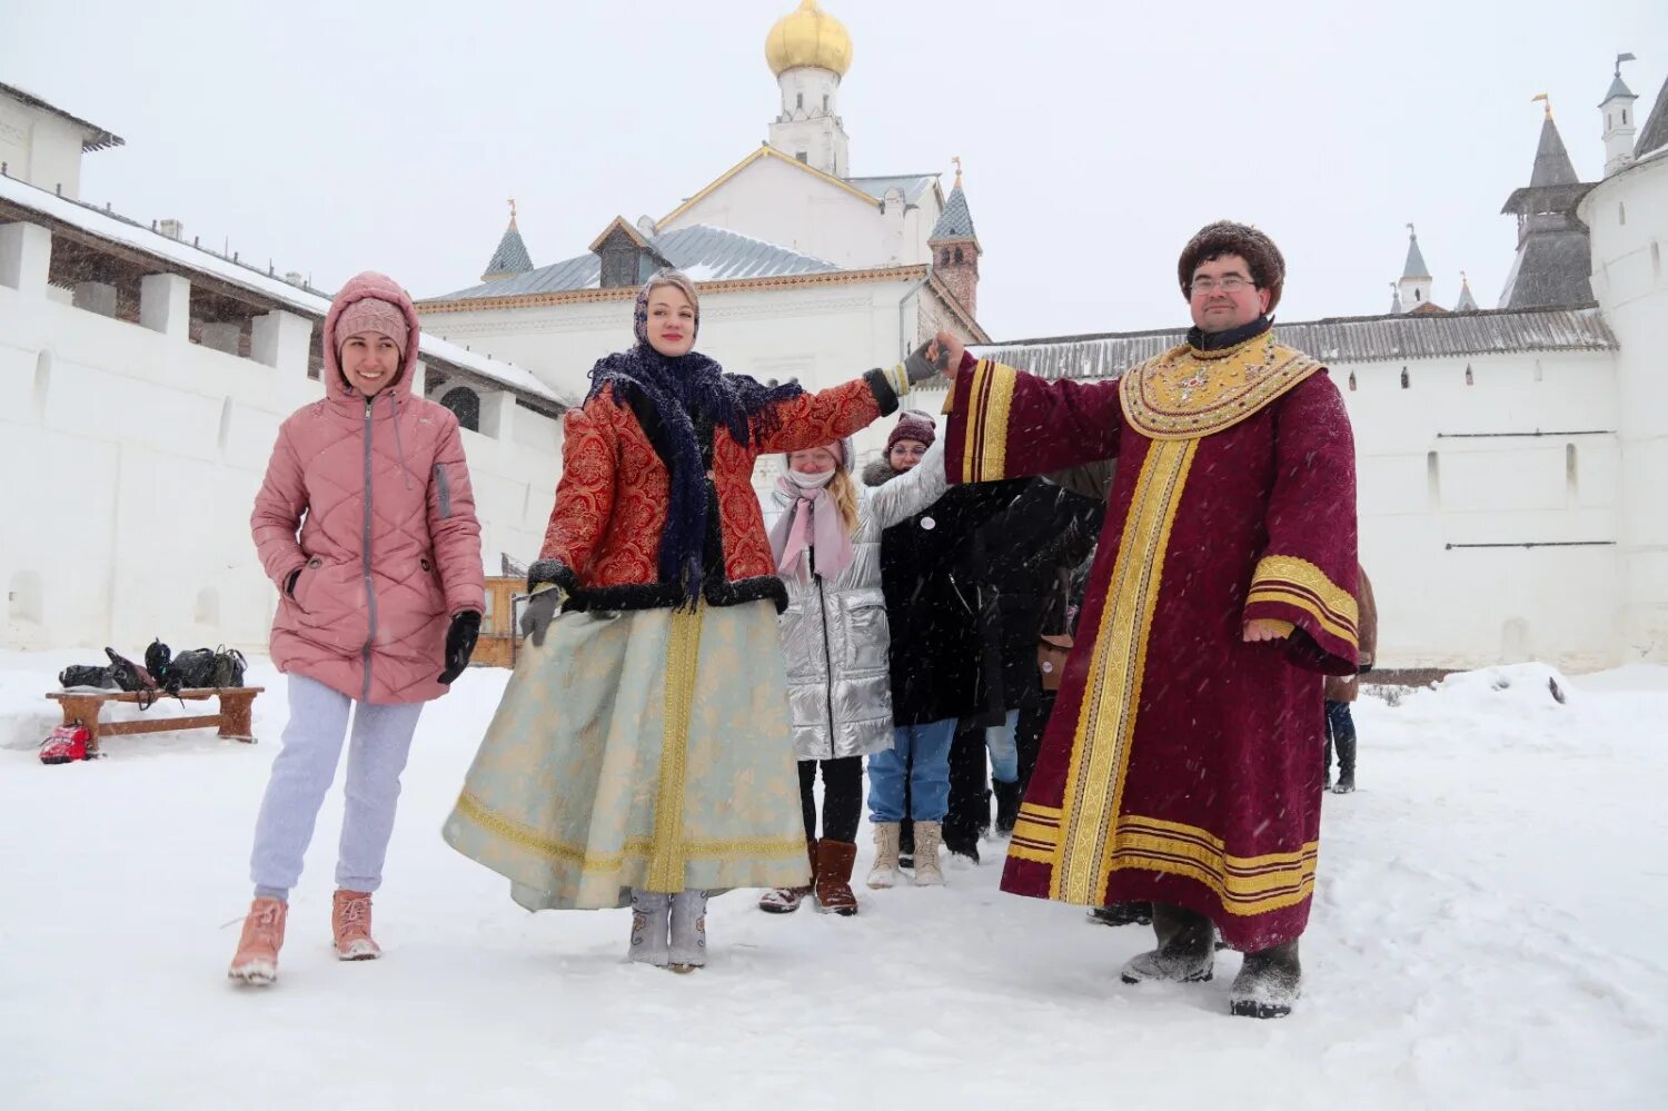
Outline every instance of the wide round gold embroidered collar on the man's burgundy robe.
<svg viewBox="0 0 1668 1111">
<path fill-rule="evenodd" d="M 1193 439 L 1239 424 L 1323 369 L 1264 332 L 1221 352 L 1173 347 L 1124 374 L 1118 397 L 1138 432 Z"/>
</svg>

